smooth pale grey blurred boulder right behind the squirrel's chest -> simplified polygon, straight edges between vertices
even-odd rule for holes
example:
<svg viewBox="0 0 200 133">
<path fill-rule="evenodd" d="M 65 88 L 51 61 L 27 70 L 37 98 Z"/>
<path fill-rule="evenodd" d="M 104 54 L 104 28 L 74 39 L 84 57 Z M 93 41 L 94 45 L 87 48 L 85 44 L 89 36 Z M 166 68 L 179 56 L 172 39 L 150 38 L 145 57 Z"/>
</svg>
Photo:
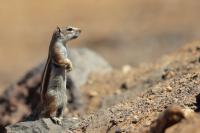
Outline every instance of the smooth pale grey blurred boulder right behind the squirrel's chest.
<svg viewBox="0 0 200 133">
<path fill-rule="evenodd" d="M 102 73 L 112 69 L 101 56 L 87 48 L 72 49 L 69 58 L 74 65 L 70 75 L 77 86 L 83 85 L 91 72 Z"/>
</svg>

